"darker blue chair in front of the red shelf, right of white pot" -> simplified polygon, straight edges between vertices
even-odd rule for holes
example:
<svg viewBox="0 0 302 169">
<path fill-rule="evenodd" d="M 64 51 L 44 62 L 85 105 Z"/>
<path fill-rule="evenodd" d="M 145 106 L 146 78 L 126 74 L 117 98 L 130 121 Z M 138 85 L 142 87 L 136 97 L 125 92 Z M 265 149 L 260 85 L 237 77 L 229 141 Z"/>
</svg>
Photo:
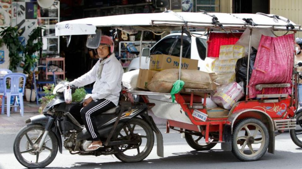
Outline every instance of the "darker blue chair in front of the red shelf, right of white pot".
<svg viewBox="0 0 302 169">
<path fill-rule="evenodd" d="M 46 66 L 37 66 L 33 69 L 33 73 L 35 73 L 36 70 L 38 70 L 39 68 L 45 68 L 45 71 L 47 72 L 48 71 L 48 67 Z M 36 102 L 37 102 L 37 105 L 39 105 L 39 99 L 42 98 L 43 96 L 45 96 L 45 93 L 44 91 L 42 91 L 42 86 L 43 85 L 46 85 L 46 84 L 54 84 L 56 85 L 56 77 L 55 77 L 55 74 L 53 72 L 53 77 L 51 79 L 39 79 L 39 80 L 36 80 L 36 76 L 34 75 L 33 77 L 33 86 L 34 86 L 34 89 L 36 91 Z M 39 90 L 37 88 L 37 85 L 39 85 Z M 31 91 L 31 94 L 32 94 L 32 91 Z M 30 97 L 31 98 L 31 97 Z"/>
</svg>

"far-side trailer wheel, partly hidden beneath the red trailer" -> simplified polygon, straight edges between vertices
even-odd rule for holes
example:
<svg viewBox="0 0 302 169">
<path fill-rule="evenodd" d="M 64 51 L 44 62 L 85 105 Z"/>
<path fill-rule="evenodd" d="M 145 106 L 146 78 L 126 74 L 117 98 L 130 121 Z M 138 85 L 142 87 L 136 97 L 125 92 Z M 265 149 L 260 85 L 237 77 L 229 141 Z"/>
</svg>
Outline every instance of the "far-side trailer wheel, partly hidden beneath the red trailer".
<svg viewBox="0 0 302 169">
<path fill-rule="evenodd" d="M 212 137 L 211 133 L 209 134 L 209 137 Z M 185 138 L 188 145 L 197 151 L 210 150 L 217 144 L 217 143 L 211 143 L 214 141 L 214 139 L 211 138 L 209 138 L 209 143 L 206 143 L 204 136 L 196 136 L 196 135 L 185 133 Z"/>
</svg>

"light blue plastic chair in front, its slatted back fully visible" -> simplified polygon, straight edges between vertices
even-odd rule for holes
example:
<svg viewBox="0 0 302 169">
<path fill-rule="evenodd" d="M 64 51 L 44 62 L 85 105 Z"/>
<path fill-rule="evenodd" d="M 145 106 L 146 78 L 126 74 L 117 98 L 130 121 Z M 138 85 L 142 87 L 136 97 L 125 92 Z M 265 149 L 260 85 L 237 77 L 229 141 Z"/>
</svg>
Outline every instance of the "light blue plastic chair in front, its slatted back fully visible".
<svg viewBox="0 0 302 169">
<path fill-rule="evenodd" d="M 4 83 L 4 95 L 2 98 L 2 110 L 1 114 L 4 114 L 4 102 L 6 96 L 6 113 L 7 116 L 10 116 L 10 99 L 12 96 L 18 96 L 20 99 L 20 114 L 21 116 L 24 115 L 24 104 L 23 104 L 23 96 L 24 96 L 24 89 L 25 83 L 23 83 L 22 91 L 19 89 L 20 78 L 23 78 L 23 81 L 26 81 L 26 76 L 23 73 L 10 73 L 4 76 L 3 83 Z M 10 79 L 10 88 L 7 89 L 6 80 Z"/>
</svg>

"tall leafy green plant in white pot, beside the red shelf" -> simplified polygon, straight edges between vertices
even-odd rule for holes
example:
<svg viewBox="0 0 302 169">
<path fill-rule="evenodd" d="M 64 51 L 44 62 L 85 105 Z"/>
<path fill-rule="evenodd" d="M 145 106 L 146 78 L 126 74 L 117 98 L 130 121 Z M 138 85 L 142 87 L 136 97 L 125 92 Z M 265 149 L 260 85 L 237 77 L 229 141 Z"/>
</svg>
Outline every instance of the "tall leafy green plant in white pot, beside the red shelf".
<svg viewBox="0 0 302 169">
<path fill-rule="evenodd" d="M 23 73 L 28 74 L 28 78 L 26 78 L 25 84 L 25 98 L 27 101 L 34 101 L 36 99 L 36 92 L 33 90 L 31 91 L 31 85 L 33 83 L 33 76 L 37 75 L 38 73 L 35 72 L 33 74 L 32 70 L 36 63 L 38 62 L 38 57 L 35 55 L 37 51 L 39 51 L 43 43 L 41 41 L 41 31 L 42 27 L 37 27 L 33 29 L 28 37 L 27 44 L 24 47 L 24 66 L 23 66 Z M 31 95 L 31 98 L 30 98 Z"/>
</svg>

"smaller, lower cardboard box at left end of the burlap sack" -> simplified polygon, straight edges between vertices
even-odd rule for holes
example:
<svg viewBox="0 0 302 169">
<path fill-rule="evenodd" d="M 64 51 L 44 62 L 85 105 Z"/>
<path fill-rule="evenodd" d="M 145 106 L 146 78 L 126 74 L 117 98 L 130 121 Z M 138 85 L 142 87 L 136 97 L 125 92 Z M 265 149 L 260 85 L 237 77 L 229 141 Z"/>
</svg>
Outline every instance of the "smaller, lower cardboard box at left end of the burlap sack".
<svg viewBox="0 0 302 169">
<path fill-rule="evenodd" d="M 148 69 L 139 69 L 138 78 L 137 78 L 137 88 L 148 90 L 147 85 L 152 80 L 154 74 L 159 71 L 148 70 Z"/>
</svg>

